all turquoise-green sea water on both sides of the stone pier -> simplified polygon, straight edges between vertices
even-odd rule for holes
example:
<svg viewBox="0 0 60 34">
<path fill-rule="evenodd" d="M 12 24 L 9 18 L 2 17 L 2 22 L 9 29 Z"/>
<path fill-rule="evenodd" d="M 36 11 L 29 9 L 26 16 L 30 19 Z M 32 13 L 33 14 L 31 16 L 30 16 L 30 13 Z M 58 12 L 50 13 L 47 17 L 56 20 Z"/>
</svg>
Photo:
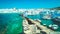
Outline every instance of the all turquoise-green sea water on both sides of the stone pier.
<svg viewBox="0 0 60 34">
<path fill-rule="evenodd" d="M 31 19 L 40 19 L 39 15 L 27 16 Z M 19 16 L 19 13 L 0 13 L 0 34 L 19 34 L 23 33 L 23 18 Z M 52 20 L 40 19 L 42 24 L 46 26 L 54 24 Z M 56 30 L 60 31 L 60 27 Z"/>
</svg>

